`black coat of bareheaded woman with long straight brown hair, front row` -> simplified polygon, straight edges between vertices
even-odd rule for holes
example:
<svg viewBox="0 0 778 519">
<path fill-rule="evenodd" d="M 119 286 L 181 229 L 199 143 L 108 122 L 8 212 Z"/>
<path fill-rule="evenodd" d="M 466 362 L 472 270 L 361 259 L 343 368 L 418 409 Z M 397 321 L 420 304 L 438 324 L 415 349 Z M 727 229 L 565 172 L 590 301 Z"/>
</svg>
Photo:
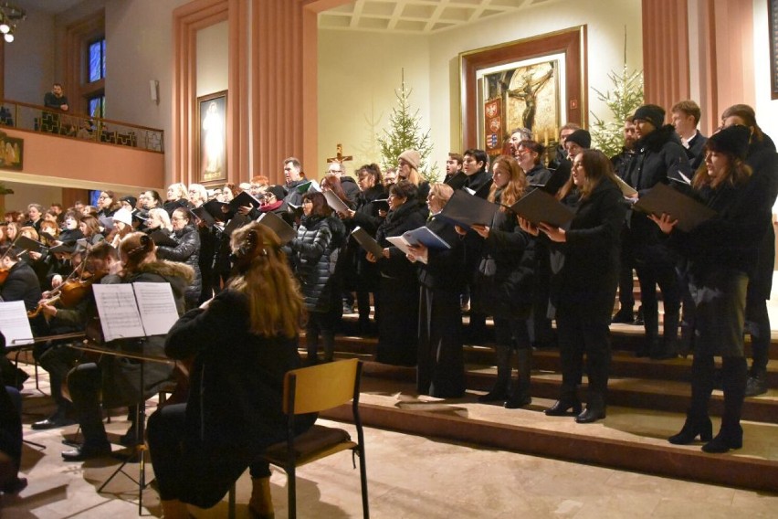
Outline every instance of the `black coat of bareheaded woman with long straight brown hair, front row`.
<svg viewBox="0 0 778 519">
<path fill-rule="evenodd" d="M 566 241 L 550 245 L 552 305 L 610 323 L 626 206 L 621 190 L 607 178 L 588 198 L 573 197 L 568 201 L 575 216 L 565 233 Z"/>
</svg>

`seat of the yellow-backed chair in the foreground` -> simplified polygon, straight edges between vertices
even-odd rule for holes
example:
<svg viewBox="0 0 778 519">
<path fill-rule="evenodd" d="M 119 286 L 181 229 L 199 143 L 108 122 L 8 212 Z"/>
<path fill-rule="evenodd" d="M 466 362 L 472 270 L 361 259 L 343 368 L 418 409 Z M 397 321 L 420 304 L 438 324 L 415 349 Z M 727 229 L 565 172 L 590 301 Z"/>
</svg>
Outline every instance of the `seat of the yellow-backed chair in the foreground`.
<svg viewBox="0 0 778 519">
<path fill-rule="evenodd" d="M 294 439 L 294 450 L 297 465 L 315 461 L 338 450 L 353 449 L 357 444 L 352 442 L 348 431 L 323 425 L 314 425 Z M 279 441 L 265 450 L 264 457 L 275 465 L 284 466 L 289 460 L 289 445 Z"/>
</svg>

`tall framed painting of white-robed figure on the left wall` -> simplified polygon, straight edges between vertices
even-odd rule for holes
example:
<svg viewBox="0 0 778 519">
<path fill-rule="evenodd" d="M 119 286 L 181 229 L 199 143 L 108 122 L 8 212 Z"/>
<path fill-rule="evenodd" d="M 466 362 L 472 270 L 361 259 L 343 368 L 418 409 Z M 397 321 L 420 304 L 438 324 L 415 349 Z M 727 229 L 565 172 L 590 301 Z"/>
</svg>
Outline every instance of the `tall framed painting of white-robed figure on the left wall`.
<svg viewBox="0 0 778 519">
<path fill-rule="evenodd" d="M 197 98 L 200 184 L 226 181 L 226 102 L 226 90 Z"/>
</svg>

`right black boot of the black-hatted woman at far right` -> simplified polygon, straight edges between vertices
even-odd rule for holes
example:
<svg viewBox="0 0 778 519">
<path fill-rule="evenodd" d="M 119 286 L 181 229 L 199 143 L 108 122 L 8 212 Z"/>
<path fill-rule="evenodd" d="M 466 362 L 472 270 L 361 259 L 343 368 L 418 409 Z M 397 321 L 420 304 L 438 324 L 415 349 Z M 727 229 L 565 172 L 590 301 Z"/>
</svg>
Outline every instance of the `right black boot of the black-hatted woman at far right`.
<svg viewBox="0 0 778 519">
<path fill-rule="evenodd" d="M 710 453 L 726 452 L 743 446 L 741 413 L 748 378 L 748 363 L 744 357 L 722 357 L 721 376 L 724 387 L 724 412 L 721 429 L 713 440 L 702 446 Z"/>
</svg>

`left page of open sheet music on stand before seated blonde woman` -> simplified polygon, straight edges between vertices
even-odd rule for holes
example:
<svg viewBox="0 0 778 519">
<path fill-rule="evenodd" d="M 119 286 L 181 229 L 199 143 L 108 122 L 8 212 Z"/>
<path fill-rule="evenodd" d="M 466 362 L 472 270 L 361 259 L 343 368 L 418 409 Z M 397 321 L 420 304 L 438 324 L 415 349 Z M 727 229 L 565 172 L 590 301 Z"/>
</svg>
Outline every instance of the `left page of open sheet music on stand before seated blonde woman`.
<svg viewBox="0 0 778 519">
<path fill-rule="evenodd" d="M 161 283 L 162 284 L 162 283 Z M 106 342 L 126 337 L 143 337 L 141 313 L 131 284 L 92 285 L 100 326 Z"/>
</svg>

